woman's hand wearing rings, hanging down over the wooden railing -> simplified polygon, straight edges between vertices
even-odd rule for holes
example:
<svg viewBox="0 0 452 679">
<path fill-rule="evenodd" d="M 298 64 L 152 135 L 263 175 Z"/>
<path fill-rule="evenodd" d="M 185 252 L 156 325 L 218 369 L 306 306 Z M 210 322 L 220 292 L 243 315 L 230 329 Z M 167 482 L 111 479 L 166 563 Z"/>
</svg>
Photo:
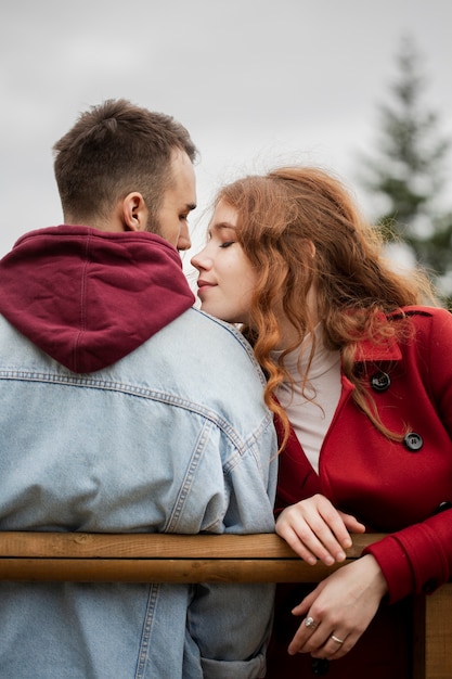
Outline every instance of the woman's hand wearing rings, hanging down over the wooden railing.
<svg viewBox="0 0 452 679">
<path fill-rule="evenodd" d="M 387 584 L 371 554 L 325 578 L 293 610 L 304 615 L 288 653 L 336 659 L 353 648 L 374 617 Z"/>
</svg>

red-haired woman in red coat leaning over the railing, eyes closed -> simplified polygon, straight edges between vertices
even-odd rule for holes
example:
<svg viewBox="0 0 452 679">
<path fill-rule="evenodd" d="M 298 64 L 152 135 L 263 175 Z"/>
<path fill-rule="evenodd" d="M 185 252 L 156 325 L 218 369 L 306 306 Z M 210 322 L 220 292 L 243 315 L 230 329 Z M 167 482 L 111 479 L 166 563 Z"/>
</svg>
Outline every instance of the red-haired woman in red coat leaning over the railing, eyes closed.
<svg viewBox="0 0 452 679">
<path fill-rule="evenodd" d="M 451 315 L 314 168 L 224 187 L 192 264 L 202 308 L 243 324 L 268 376 L 279 535 L 332 565 L 349 533 L 388 534 L 314 588 L 279 587 L 267 677 L 409 679 L 411 595 L 452 574 Z"/>
</svg>

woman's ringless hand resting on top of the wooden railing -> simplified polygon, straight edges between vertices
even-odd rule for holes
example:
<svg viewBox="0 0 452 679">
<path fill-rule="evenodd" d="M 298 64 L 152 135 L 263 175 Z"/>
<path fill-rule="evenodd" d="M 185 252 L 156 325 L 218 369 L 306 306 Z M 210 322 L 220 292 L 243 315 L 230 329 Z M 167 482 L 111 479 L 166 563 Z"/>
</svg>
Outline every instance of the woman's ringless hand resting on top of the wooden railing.
<svg viewBox="0 0 452 679">
<path fill-rule="evenodd" d="M 276 521 L 276 533 L 304 561 L 326 566 L 345 561 L 351 547 L 350 533 L 364 533 L 365 526 L 350 514 L 336 510 L 323 495 L 287 507 Z"/>
</svg>

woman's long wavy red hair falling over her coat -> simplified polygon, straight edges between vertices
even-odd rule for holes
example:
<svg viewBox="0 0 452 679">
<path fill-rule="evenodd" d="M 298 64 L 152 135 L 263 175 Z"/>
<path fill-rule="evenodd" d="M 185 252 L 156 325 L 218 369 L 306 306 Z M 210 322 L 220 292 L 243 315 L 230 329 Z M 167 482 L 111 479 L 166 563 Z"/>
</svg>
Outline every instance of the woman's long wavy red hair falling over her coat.
<svg viewBox="0 0 452 679">
<path fill-rule="evenodd" d="M 418 271 L 409 277 L 396 272 L 384 257 L 378 230 L 363 219 L 345 185 L 321 169 L 282 167 L 247 176 L 223 187 L 216 204 L 220 201 L 237 210 L 237 241 L 257 272 L 249 323 L 242 330 L 267 374 L 264 399 L 283 424 L 283 445 L 289 424 L 273 394 L 290 376 L 282 360 L 271 357 L 282 340 L 277 308 L 282 304 L 296 336 L 284 357 L 318 322 L 307 304 L 311 289 L 323 341 L 340 350 L 357 405 L 386 436 L 401 438 L 382 423 L 356 374 L 357 342 L 380 343 L 410 334 L 403 315 L 402 322 L 400 315 L 397 322 L 390 315 L 403 306 L 434 300 L 427 277 Z"/>
</svg>

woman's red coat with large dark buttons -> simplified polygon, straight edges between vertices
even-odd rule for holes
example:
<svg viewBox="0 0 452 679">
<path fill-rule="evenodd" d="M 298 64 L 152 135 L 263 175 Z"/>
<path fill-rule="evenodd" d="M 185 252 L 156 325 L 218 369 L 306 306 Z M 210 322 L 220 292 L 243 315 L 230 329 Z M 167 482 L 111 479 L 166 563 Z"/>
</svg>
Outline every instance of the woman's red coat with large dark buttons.
<svg viewBox="0 0 452 679">
<path fill-rule="evenodd" d="M 354 514 L 369 531 L 388 533 L 367 548 L 389 588 L 388 603 L 344 658 L 325 676 L 354 679 L 409 679 L 411 598 L 431 592 L 452 577 L 452 315 L 410 307 L 415 336 L 408 344 L 375 347 L 362 343 L 357 370 L 366 374 L 383 422 L 410 434 L 392 443 L 351 398 L 343 375 L 340 400 L 325 436 L 319 475 L 295 434 L 280 458 L 276 510 L 315 492 Z M 290 607 L 306 587 L 279 586 L 274 637 L 267 677 L 322 676 L 306 654 L 288 656 L 300 619 Z M 294 624 L 295 623 L 295 624 Z"/>
</svg>

